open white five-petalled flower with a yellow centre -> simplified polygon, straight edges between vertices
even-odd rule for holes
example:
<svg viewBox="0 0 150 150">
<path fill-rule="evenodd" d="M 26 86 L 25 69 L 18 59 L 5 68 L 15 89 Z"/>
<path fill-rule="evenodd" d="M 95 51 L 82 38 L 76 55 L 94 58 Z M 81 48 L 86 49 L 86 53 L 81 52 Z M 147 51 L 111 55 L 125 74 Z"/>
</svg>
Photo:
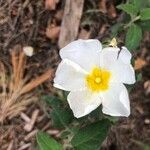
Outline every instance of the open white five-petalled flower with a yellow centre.
<svg viewBox="0 0 150 150">
<path fill-rule="evenodd" d="M 67 100 L 74 116 L 89 114 L 102 104 L 111 116 L 129 116 L 130 104 L 123 83 L 135 82 L 131 54 L 126 47 L 102 49 L 98 40 L 77 40 L 60 50 L 54 86 L 70 91 Z"/>
</svg>

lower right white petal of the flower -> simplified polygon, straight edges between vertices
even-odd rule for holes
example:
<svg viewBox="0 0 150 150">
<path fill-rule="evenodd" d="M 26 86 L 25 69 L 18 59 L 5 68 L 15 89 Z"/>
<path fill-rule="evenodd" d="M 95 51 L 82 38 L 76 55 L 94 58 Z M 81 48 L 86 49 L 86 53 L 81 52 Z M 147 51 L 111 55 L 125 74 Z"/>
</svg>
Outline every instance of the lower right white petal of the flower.
<svg viewBox="0 0 150 150">
<path fill-rule="evenodd" d="M 111 116 L 129 116 L 130 102 L 123 84 L 111 84 L 110 89 L 102 94 L 103 113 Z"/>
</svg>

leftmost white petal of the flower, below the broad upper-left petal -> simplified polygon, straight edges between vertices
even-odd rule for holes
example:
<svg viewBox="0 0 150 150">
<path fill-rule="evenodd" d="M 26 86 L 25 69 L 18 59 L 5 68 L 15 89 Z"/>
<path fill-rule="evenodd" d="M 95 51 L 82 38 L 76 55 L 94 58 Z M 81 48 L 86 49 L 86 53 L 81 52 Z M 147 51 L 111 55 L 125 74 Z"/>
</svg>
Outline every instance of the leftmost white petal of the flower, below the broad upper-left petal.
<svg viewBox="0 0 150 150">
<path fill-rule="evenodd" d="M 76 91 L 85 88 L 86 72 L 74 62 L 63 60 L 55 73 L 54 86 L 67 91 Z"/>
</svg>

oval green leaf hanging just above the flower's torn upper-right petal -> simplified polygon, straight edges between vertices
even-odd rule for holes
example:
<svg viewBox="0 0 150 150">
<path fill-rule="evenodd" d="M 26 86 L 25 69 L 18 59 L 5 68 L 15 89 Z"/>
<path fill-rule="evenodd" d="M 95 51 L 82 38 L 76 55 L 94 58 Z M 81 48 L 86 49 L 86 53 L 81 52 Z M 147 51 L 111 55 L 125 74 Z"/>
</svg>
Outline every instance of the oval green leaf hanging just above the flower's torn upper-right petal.
<svg viewBox="0 0 150 150">
<path fill-rule="evenodd" d="M 125 45 L 129 50 L 134 50 L 140 45 L 142 39 L 142 30 L 136 25 L 132 24 L 127 30 Z"/>
</svg>

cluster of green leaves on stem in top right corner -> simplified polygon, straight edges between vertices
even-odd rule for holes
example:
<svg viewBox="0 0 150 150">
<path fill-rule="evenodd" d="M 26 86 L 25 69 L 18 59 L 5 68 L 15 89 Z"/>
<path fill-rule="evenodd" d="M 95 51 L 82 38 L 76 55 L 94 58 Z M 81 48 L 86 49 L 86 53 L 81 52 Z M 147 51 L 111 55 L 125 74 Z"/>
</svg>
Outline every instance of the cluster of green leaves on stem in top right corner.
<svg viewBox="0 0 150 150">
<path fill-rule="evenodd" d="M 120 4 L 118 9 L 126 13 L 124 20 L 129 18 L 127 22 L 123 21 L 113 26 L 112 34 L 118 35 L 119 32 L 125 33 L 125 45 L 133 51 L 137 49 L 142 40 L 143 31 L 150 30 L 150 0 L 129 0 L 126 4 Z M 120 28 L 121 26 L 121 28 Z M 115 34 L 114 34 L 115 33 Z"/>
</svg>

